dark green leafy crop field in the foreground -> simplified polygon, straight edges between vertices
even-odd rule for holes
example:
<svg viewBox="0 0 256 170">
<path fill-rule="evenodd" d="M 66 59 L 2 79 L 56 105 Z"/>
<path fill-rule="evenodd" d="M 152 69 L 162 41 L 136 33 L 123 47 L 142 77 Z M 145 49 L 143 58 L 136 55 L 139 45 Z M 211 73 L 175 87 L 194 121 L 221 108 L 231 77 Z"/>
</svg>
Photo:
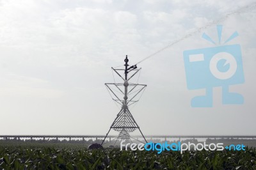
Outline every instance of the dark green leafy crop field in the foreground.
<svg viewBox="0 0 256 170">
<path fill-rule="evenodd" d="M 256 169 L 256 149 L 157 154 L 118 148 L 0 145 L 0 169 Z"/>
</svg>

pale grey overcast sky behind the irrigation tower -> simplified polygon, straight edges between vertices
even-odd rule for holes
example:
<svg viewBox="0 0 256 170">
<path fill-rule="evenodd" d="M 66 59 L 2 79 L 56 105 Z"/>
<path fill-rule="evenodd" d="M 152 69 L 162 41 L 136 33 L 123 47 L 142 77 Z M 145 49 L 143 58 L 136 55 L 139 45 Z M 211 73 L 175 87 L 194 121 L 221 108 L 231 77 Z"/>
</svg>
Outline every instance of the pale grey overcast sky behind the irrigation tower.
<svg viewBox="0 0 256 170">
<path fill-rule="evenodd" d="M 182 36 L 256 1 L 0 0 L 1 134 L 106 134 L 118 113 L 104 83 L 111 66 L 136 63 Z M 243 105 L 193 108 L 183 51 L 240 44 L 244 84 L 230 86 Z M 255 134 L 256 9 L 232 15 L 144 61 L 147 89 L 131 112 L 144 134 Z"/>
</svg>

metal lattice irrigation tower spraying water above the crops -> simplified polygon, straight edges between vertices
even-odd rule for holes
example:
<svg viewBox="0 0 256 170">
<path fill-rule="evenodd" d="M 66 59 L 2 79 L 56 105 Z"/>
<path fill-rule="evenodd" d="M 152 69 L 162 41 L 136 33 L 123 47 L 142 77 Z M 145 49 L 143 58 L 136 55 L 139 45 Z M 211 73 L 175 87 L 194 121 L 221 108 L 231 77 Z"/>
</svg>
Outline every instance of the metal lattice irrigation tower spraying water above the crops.
<svg viewBox="0 0 256 170">
<path fill-rule="evenodd" d="M 130 82 L 132 77 L 134 77 L 134 75 L 140 72 L 141 68 L 137 68 L 136 65 L 129 66 L 128 65 L 129 59 L 127 58 L 127 55 L 124 61 L 125 61 L 125 65 L 124 65 L 125 68 L 118 69 L 118 68 L 111 67 L 113 73 L 116 73 L 116 75 L 118 75 L 118 77 L 120 77 L 124 82 L 105 83 L 106 88 L 108 89 L 109 94 L 111 95 L 113 101 L 121 105 L 121 110 L 118 112 L 115 120 L 111 124 L 111 127 L 109 128 L 108 133 L 104 137 L 104 140 L 102 141 L 101 144 L 104 144 L 104 141 L 106 137 L 108 137 L 108 134 L 111 129 L 119 132 L 118 137 L 116 137 L 115 139 L 116 141 L 118 141 L 118 139 L 121 139 L 121 140 L 128 139 L 131 141 L 132 137 L 130 133 L 136 129 L 140 130 L 140 127 L 138 126 L 131 112 L 129 111 L 129 106 L 131 106 L 132 104 L 135 104 L 140 100 L 138 96 L 139 94 L 142 95 L 147 85 Z M 130 72 L 131 72 L 131 76 L 129 76 Z M 140 130 L 140 133 L 143 139 L 145 140 L 145 142 L 147 143 L 147 140 L 145 139 L 141 130 Z"/>
</svg>

